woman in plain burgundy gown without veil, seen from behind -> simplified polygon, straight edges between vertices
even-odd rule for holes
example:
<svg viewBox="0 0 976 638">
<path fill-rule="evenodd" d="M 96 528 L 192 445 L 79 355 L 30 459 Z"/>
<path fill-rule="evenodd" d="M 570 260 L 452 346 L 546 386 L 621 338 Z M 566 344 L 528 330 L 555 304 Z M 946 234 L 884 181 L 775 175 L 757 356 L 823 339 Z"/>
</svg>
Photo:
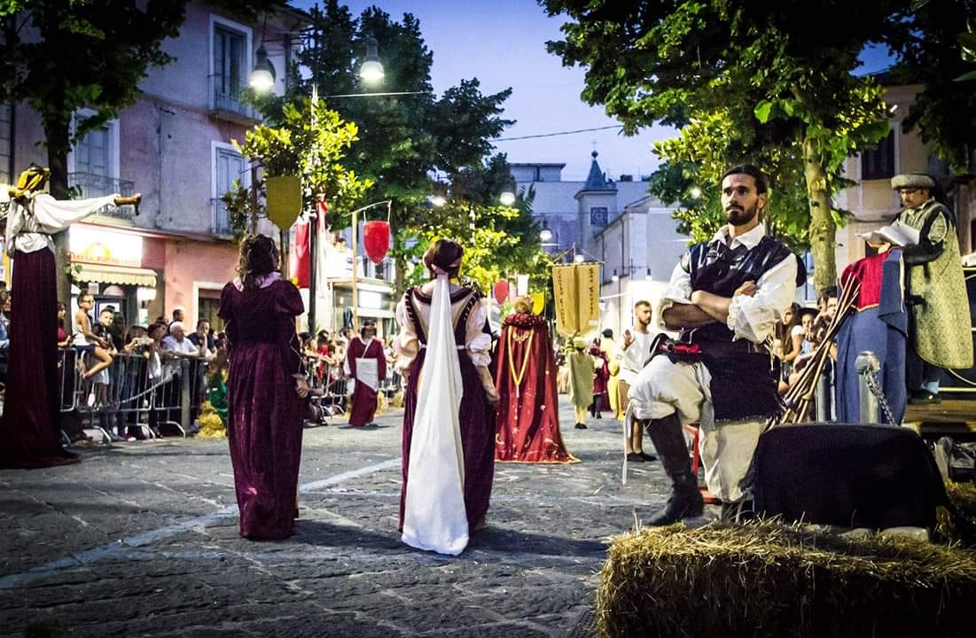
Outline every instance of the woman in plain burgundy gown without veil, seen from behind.
<svg viewBox="0 0 976 638">
<path fill-rule="evenodd" d="M 256 235 L 241 246 L 240 277 L 224 286 L 227 440 L 241 536 L 288 538 L 297 518 L 304 399 L 308 385 L 295 317 L 299 291 L 278 272 L 274 243 Z"/>
</svg>

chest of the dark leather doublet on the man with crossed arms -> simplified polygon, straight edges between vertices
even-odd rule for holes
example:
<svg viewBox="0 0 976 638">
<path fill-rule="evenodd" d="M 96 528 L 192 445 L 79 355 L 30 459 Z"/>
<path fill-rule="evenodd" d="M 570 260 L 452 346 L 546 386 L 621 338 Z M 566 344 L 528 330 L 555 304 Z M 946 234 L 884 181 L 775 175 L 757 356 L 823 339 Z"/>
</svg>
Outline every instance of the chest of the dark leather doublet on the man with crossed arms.
<svg viewBox="0 0 976 638">
<path fill-rule="evenodd" d="M 691 275 L 691 289 L 702 290 L 719 297 L 732 297 L 747 281 L 758 283 L 759 278 L 777 263 L 793 255 L 784 244 L 764 236 L 752 249 L 740 244 L 730 249 L 723 242 L 695 244 L 688 252 L 688 262 L 682 267 Z M 720 323 L 697 328 L 693 335 L 681 331 L 682 340 L 731 341 L 733 333 Z"/>
</svg>

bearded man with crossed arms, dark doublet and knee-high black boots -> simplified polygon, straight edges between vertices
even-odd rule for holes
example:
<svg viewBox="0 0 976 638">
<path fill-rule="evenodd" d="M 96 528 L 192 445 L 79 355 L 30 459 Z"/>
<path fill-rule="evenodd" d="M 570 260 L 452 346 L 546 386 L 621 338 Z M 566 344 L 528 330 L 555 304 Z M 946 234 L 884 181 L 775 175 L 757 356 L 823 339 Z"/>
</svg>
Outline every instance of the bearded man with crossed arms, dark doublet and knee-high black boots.
<svg viewBox="0 0 976 638">
<path fill-rule="evenodd" d="M 758 169 L 730 169 L 721 189 L 728 224 L 681 259 L 662 299 L 665 327 L 680 330 L 680 337 L 630 388 L 634 417 L 646 426 L 671 478 L 671 498 L 648 522 L 652 526 L 703 511 L 683 424 L 700 424 L 709 489 L 733 502 L 743 496 L 740 480 L 762 421 L 778 407 L 778 371 L 762 343 L 793 301 L 797 259 L 766 236 L 759 220 L 767 195 Z"/>
</svg>

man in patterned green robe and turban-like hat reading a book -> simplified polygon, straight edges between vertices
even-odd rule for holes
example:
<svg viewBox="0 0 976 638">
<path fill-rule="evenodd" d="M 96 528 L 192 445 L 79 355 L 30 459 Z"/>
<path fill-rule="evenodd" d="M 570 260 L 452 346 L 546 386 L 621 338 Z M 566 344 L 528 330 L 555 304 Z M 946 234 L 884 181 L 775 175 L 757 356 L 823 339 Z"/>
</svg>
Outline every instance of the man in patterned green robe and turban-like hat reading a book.
<svg viewBox="0 0 976 638">
<path fill-rule="evenodd" d="M 909 403 L 939 402 L 942 368 L 973 365 L 969 300 L 966 298 L 956 218 L 929 175 L 896 175 L 891 187 L 902 199 L 901 223 L 915 228 L 918 243 L 904 249 L 907 297 L 911 305 L 908 368 Z"/>
</svg>

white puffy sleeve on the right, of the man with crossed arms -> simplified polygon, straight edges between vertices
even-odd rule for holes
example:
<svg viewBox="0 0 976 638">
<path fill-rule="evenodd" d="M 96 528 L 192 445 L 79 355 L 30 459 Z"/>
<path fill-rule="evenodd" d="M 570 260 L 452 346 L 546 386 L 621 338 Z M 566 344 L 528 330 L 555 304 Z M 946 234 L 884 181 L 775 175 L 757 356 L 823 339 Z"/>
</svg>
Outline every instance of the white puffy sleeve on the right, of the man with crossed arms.
<svg viewBox="0 0 976 638">
<path fill-rule="evenodd" d="M 791 253 L 759 277 L 755 295 L 732 298 L 726 325 L 735 337 L 753 343 L 766 340 L 796 297 L 796 257 Z"/>
</svg>

